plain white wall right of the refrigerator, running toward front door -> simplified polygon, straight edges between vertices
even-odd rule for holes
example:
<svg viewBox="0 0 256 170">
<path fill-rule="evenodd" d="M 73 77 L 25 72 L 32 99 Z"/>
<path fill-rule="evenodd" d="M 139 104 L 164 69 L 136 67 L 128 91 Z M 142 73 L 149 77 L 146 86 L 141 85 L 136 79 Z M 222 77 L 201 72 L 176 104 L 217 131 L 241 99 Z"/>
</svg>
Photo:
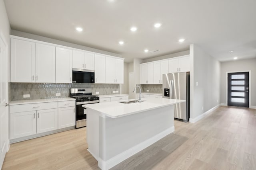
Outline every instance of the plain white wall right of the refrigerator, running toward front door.
<svg viewBox="0 0 256 170">
<path fill-rule="evenodd" d="M 194 44 L 190 57 L 190 118 L 196 119 L 220 104 L 220 62 Z"/>
</svg>

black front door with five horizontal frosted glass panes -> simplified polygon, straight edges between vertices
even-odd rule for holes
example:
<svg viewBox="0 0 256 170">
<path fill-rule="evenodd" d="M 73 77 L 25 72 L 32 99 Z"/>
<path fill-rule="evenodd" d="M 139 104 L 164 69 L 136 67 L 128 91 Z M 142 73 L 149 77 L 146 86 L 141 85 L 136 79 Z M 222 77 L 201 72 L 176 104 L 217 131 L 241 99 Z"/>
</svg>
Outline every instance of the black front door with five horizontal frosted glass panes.
<svg viewBox="0 0 256 170">
<path fill-rule="evenodd" d="M 249 72 L 228 73 L 228 106 L 249 107 Z"/>
</svg>

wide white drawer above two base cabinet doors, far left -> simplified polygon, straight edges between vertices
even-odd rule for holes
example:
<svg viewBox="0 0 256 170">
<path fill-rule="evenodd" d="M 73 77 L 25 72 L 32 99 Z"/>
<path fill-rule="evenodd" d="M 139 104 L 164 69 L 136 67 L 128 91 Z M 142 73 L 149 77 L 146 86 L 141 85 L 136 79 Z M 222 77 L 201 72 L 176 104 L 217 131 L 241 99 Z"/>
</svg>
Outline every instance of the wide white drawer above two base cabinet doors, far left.
<svg viewBox="0 0 256 170">
<path fill-rule="evenodd" d="M 58 102 L 20 104 L 10 106 L 10 113 L 58 108 Z"/>
</svg>

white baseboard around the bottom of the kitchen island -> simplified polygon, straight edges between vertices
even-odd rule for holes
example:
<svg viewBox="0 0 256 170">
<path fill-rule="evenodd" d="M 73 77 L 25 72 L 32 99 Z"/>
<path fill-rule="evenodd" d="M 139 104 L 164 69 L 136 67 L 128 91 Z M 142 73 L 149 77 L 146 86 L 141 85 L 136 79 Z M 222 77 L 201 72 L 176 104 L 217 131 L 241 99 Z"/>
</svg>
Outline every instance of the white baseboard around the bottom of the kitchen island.
<svg viewBox="0 0 256 170">
<path fill-rule="evenodd" d="M 166 135 L 169 135 L 170 133 L 174 132 L 174 126 L 166 129 L 165 131 L 155 135 L 154 137 L 151 137 L 150 139 L 110 158 L 109 160 L 102 160 L 100 158 L 98 158 L 98 166 L 102 169 L 102 170 L 108 170 L 110 168 L 112 168 L 113 166 L 119 164 L 120 162 L 126 160 L 127 158 L 129 158 L 130 156 L 140 152 L 141 150 L 145 149 L 146 147 L 152 145 L 153 143 L 155 143 L 156 141 L 159 141 L 160 139 L 162 139 L 163 137 L 165 137 Z M 88 150 L 89 151 L 89 150 Z M 90 151 L 89 151 L 90 152 Z"/>
</svg>

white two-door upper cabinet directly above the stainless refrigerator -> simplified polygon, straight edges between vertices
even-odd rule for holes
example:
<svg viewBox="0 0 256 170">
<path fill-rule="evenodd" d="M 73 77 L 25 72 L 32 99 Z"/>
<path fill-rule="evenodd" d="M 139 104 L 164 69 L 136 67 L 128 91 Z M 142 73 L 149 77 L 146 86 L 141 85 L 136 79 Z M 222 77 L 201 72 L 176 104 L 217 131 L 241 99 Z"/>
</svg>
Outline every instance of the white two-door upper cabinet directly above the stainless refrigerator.
<svg viewBox="0 0 256 170">
<path fill-rule="evenodd" d="M 169 71 L 168 72 L 186 72 L 190 71 L 190 57 L 186 55 L 175 59 L 169 59 Z"/>
</svg>

